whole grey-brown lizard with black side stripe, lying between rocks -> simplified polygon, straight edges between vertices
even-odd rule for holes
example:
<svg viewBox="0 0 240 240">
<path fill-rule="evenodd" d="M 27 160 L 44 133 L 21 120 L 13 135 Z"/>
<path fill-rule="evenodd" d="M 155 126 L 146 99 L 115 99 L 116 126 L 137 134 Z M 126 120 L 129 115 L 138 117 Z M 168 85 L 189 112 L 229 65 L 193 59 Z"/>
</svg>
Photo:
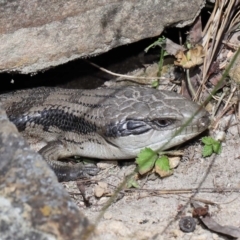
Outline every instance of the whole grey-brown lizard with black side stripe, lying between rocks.
<svg viewBox="0 0 240 240">
<path fill-rule="evenodd" d="M 0 95 L 0 101 L 10 121 L 60 181 L 97 172 L 58 161 L 61 158 L 134 158 L 144 147 L 158 151 L 181 144 L 210 123 L 208 113 L 197 104 L 173 92 L 146 87 L 35 88 Z M 175 136 L 192 115 L 192 121 Z"/>
</svg>

